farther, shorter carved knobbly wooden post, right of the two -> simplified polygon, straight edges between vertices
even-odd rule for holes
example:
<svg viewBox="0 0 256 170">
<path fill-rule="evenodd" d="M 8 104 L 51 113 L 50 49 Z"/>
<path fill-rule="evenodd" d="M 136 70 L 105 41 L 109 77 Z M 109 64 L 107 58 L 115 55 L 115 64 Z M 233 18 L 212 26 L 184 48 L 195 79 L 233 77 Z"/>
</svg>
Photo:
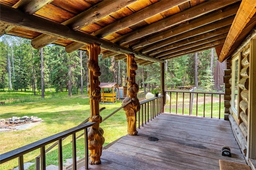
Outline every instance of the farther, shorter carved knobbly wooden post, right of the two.
<svg viewBox="0 0 256 170">
<path fill-rule="evenodd" d="M 124 111 L 127 117 L 128 123 L 128 134 L 136 135 L 138 131 L 136 130 L 136 118 L 137 111 L 140 110 L 140 102 L 137 98 L 137 93 L 139 91 L 138 84 L 135 83 L 136 70 L 138 69 L 137 63 L 134 60 L 134 55 L 127 55 L 127 97 L 124 99 L 123 104 L 132 100 L 130 104 L 124 107 Z"/>
</svg>

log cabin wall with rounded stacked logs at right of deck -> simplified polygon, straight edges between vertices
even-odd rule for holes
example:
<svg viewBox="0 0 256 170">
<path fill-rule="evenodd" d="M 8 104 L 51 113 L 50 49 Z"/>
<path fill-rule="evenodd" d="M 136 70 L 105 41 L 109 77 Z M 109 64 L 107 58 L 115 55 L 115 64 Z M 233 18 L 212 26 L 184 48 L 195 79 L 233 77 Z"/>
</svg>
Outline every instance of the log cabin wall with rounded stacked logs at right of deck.
<svg viewBox="0 0 256 170">
<path fill-rule="evenodd" d="M 242 48 L 236 55 L 232 55 L 229 59 L 226 60 L 227 70 L 224 74 L 224 83 L 225 83 L 225 95 L 224 95 L 224 107 L 225 114 L 230 114 L 230 123 L 232 125 L 234 134 L 240 145 L 244 156 L 248 158 L 248 130 L 249 130 L 249 110 L 248 104 L 250 104 L 250 70 L 252 67 L 252 62 L 250 62 L 250 41 L 247 41 L 244 48 Z M 234 66 L 235 61 L 238 60 L 238 66 Z M 235 74 L 238 71 L 239 74 Z M 232 76 L 237 76 L 237 85 L 235 85 L 235 78 Z M 237 88 L 237 90 L 235 90 Z M 252 88 L 252 87 L 251 87 Z M 234 94 L 232 94 L 234 93 Z M 236 96 L 237 93 L 237 96 Z M 234 109 L 234 99 L 237 98 L 236 108 Z M 232 105 L 233 104 L 233 105 Z M 251 110 L 252 114 L 252 110 Z M 232 115 L 232 116 L 231 116 Z M 249 148 L 248 148 L 249 147 Z"/>
</svg>

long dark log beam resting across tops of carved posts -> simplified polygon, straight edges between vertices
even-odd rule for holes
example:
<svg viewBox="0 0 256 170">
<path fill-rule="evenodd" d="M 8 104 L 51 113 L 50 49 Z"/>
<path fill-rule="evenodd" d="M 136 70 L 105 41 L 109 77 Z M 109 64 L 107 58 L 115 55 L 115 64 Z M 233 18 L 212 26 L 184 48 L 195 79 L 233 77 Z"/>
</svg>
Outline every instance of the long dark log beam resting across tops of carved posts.
<svg viewBox="0 0 256 170">
<path fill-rule="evenodd" d="M 31 29 L 37 32 L 62 37 L 65 39 L 69 39 L 71 41 L 76 41 L 78 43 L 86 43 L 86 44 L 97 43 L 97 44 L 100 44 L 100 47 L 103 49 L 108 49 L 110 51 L 114 51 L 122 54 L 134 54 L 137 58 L 140 58 L 140 59 L 145 59 L 152 62 L 165 63 L 164 60 L 155 59 L 154 57 L 144 55 L 138 51 L 134 51 L 127 47 L 117 45 L 110 41 L 106 41 L 104 39 L 100 39 L 98 37 L 88 35 L 86 33 L 82 33 L 80 31 L 74 31 L 69 27 L 62 25 L 60 23 L 45 20 L 43 18 L 33 16 L 33 15 L 32 16 L 26 15 L 20 10 L 11 8 L 6 5 L 1 5 L 0 12 L 1 12 L 0 20 L 4 23 L 18 25 L 26 29 Z"/>
</svg>

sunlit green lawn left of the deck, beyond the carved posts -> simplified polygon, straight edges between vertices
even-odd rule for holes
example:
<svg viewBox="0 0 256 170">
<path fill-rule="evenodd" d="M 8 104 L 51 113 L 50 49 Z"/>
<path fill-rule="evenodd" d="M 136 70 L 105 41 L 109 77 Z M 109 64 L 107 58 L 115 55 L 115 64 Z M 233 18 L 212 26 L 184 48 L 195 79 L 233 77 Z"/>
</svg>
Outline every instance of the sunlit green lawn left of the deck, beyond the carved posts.
<svg viewBox="0 0 256 170">
<path fill-rule="evenodd" d="M 22 92 L 18 93 L 22 94 Z M 23 97 L 21 98 L 24 99 L 24 96 L 26 98 L 26 95 L 29 96 L 29 92 L 26 93 L 22 94 Z M 14 94 L 14 96 L 16 95 L 18 94 Z M 2 92 L 0 93 L 0 96 L 2 98 Z M 67 94 L 65 96 L 67 96 Z M 90 115 L 89 99 L 86 97 L 87 95 L 78 95 L 74 97 L 61 96 L 61 98 L 55 97 L 54 99 L 39 99 L 40 101 L 37 102 L 0 106 L 0 118 L 6 119 L 12 116 L 22 117 L 27 115 L 38 116 L 43 119 L 42 123 L 30 129 L 0 133 L 0 154 L 79 125 Z M 13 100 L 15 101 L 15 99 Z M 121 104 L 121 102 L 116 102 L 115 104 L 100 104 L 100 108 L 106 107 L 106 109 L 100 112 L 102 118 L 112 113 L 120 107 Z M 121 109 L 118 113 L 102 122 L 100 127 L 104 130 L 104 145 L 126 135 L 127 123 L 124 111 Z M 77 136 L 81 133 L 82 132 L 77 133 Z M 72 158 L 72 143 L 70 143 L 70 141 L 71 137 L 65 139 L 62 144 L 64 146 L 64 161 L 66 158 Z M 77 146 L 77 155 L 83 157 L 84 137 L 77 140 Z M 50 145 L 47 145 L 46 149 L 48 147 L 50 147 Z M 58 164 L 58 150 L 56 149 L 57 147 L 46 154 L 46 164 Z M 39 154 L 40 150 L 35 150 L 24 155 L 24 162 L 34 162 L 35 157 Z M 12 169 L 17 165 L 18 159 L 16 158 L 1 164 L 0 170 Z"/>
</svg>

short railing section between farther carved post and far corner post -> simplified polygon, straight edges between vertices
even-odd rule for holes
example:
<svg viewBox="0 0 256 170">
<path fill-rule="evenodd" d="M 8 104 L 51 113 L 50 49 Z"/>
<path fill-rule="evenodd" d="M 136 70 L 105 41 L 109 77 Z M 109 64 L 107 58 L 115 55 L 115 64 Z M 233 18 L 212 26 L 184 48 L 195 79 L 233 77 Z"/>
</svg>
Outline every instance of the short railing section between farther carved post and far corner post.
<svg viewBox="0 0 256 170">
<path fill-rule="evenodd" d="M 138 128 L 140 125 L 143 127 L 144 124 L 152 121 L 154 117 L 158 116 L 161 112 L 161 103 L 163 102 L 163 96 L 154 97 L 148 100 L 140 102 L 140 111 L 138 112 Z M 141 113 L 141 114 L 140 114 Z M 141 122 L 141 123 L 140 123 Z"/>
</svg>

